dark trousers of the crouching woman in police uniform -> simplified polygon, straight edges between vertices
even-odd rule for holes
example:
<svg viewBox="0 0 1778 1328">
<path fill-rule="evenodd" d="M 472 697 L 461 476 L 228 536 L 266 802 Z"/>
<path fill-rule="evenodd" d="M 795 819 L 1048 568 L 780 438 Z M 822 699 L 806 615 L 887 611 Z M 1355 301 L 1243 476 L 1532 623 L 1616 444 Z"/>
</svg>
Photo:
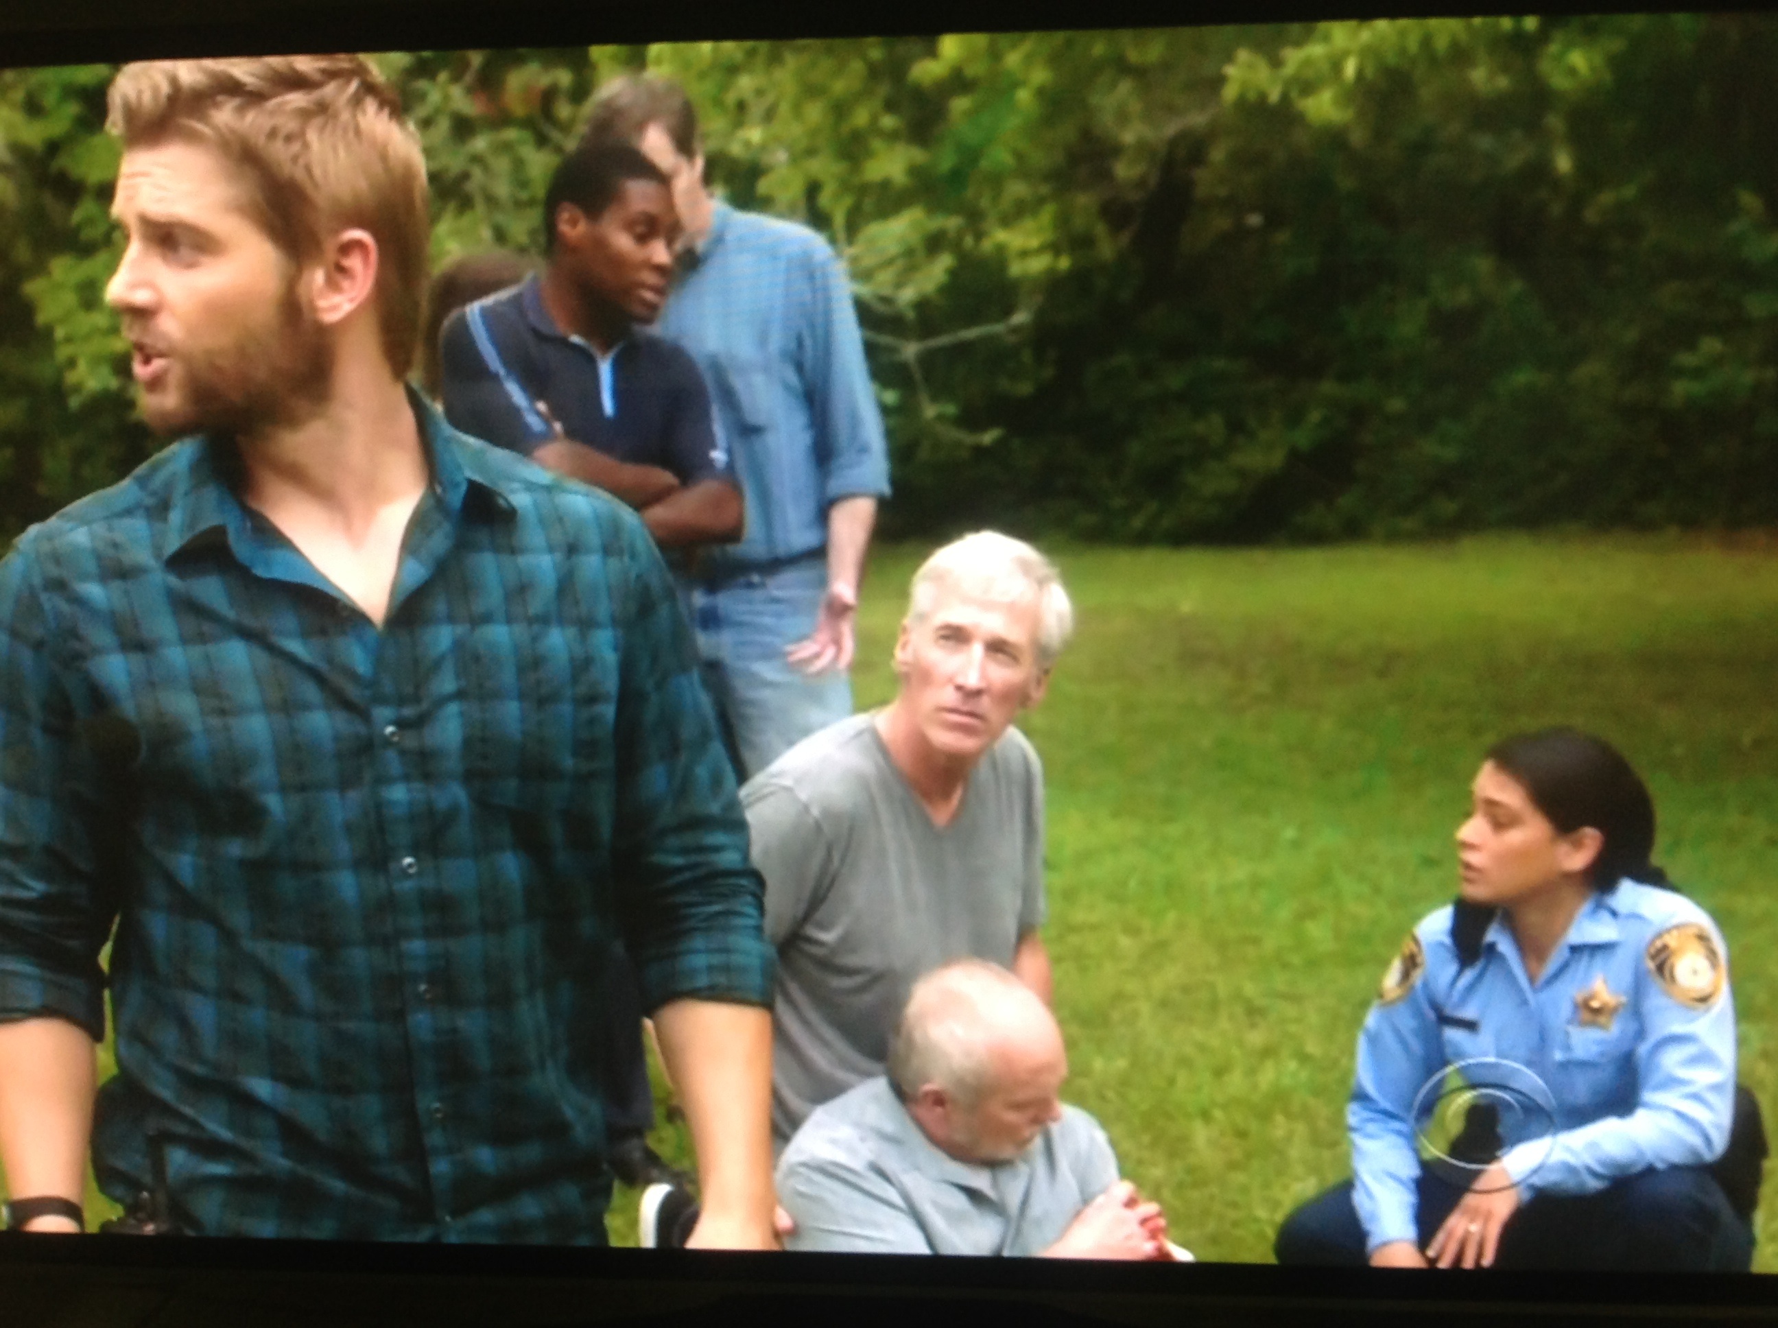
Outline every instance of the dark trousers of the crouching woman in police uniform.
<svg viewBox="0 0 1778 1328">
<path fill-rule="evenodd" d="M 1419 1246 L 1431 1243 L 1463 1189 L 1426 1172 Z M 1303 1204 L 1278 1228 L 1280 1264 L 1367 1262 L 1351 1180 Z M 1536 1195 L 1501 1232 L 1495 1268 L 1746 1273 L 1753 1230 L 1703 1166 L 1638 1172 L 1595 1195 Z"/>
</svg>

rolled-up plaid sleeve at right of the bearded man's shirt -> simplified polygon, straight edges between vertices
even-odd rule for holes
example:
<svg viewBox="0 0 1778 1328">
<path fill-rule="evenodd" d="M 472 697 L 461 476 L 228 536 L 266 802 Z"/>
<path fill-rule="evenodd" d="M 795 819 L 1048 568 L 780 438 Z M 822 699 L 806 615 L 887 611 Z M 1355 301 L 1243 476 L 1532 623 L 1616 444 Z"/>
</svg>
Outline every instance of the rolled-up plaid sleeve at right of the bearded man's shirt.
<svg viewBox="0 0 1778 1328">
<path fill-rule="evenodd" d="M 605 564 L 617 587 L 619 924 L 644 1010 L 677 997 L 772 1003 L 775 955 L 747 820 L 667 567 L 631 512 Z"/>
</svg>

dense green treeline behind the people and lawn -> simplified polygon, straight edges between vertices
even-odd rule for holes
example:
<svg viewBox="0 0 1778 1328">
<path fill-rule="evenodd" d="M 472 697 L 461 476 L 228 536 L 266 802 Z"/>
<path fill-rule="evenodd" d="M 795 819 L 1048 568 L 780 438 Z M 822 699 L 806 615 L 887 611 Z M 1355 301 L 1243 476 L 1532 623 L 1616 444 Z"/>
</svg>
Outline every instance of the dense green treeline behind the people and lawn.
<svg viewBox="0 0 1778 1328">
<path fill-rule="evenodd" d="M 1778 521 L 1760 14 L 379 57 L 443 261 L 535 249 L 621 68 L 846 254 L 903 532 Z M 0 532 L 123 473 L 108 69 L 0 73 Z"/>
</svg>

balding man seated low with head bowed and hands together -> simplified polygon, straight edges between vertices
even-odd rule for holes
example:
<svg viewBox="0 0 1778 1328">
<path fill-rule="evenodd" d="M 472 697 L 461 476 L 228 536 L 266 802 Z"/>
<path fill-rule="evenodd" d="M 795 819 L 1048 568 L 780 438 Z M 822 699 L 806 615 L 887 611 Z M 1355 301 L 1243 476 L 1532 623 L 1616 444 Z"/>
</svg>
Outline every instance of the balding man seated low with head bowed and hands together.
<svg viewBox="0 0 1778 1328">
<path fill-rule="evenodd" d="M 1189 1259 L 1099 1124 L 1058 1100 L 1067 1072 L 1056 1020 L 1012 972 L 926 974 L 887 1076 L 818 1106 L 779 1159 L 786 1248 Z"/>
</svg>

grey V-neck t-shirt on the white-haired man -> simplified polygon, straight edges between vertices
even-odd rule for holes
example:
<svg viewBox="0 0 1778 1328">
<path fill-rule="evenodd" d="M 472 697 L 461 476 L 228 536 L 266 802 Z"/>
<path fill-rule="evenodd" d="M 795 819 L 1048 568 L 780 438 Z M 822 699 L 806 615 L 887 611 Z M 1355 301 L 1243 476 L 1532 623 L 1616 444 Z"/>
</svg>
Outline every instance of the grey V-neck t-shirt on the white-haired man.
<svg viewBox="0 0 1778 1328">
<path fill-rule="evenodd" d="M 869 715 L 830 724 L 741 789 L 766 937 L 779 951 L 772 1132 L 882 1074 L 914 980 L 955 958 L 1012 964 L 1044 921 L 1044 768 L 1008 729 L 946 827 Z"/>
</svg>

